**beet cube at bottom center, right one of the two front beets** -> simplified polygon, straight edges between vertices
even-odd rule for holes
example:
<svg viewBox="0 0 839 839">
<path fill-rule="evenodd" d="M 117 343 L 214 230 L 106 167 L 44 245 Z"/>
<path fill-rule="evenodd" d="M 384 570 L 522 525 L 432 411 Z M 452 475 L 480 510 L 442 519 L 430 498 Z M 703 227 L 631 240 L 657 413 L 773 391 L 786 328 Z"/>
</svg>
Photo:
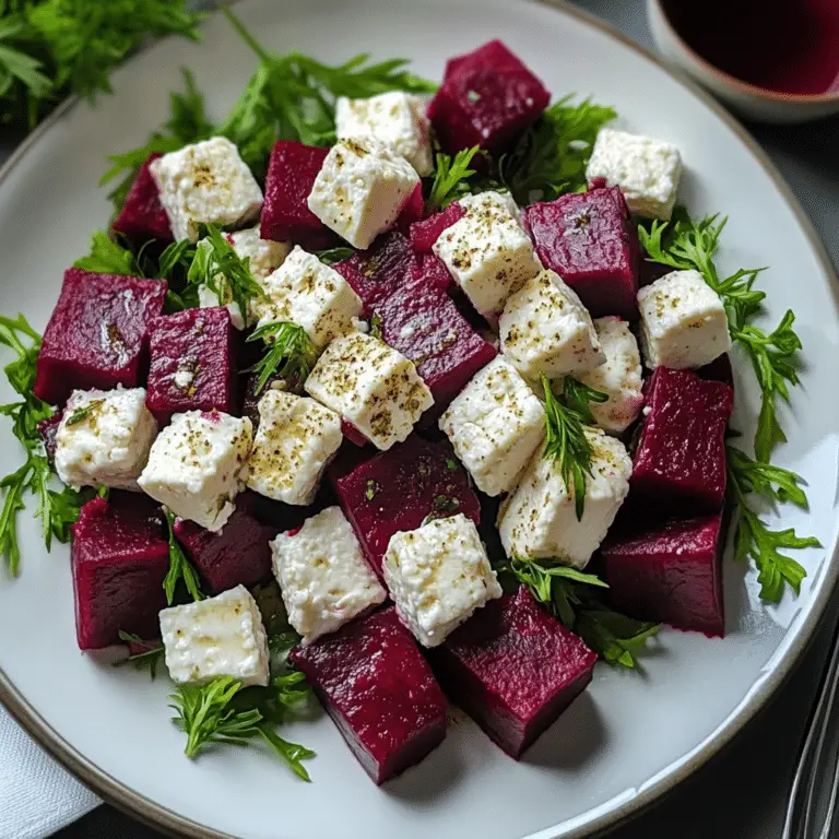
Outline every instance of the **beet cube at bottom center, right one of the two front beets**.
<svg viewBox="0 0 839 839">
<path fill-rule="evenodd" d="M 596 660 L 522 586 L 456 629 L 432 664 L 449 697 L 518 759 L 588 687 Z"/>
</svg>

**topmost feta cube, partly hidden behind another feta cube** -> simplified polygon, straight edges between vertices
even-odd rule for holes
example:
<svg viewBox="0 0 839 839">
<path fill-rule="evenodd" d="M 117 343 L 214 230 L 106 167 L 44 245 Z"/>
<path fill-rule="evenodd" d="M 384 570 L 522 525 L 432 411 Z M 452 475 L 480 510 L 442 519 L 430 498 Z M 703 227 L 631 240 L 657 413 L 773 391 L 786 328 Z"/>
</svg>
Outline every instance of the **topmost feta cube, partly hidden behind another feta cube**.
<svg viewBox="0 0 839 839">
<path fill-rule="evenodd" d="M 339 96 L 335 104 L 339 140 L 375 140 L 404 157 L 425 177 L 432 174 L 432 143 L 425 104 L 420 96 L 390 91 L 369 99 Z"/>
</svg>

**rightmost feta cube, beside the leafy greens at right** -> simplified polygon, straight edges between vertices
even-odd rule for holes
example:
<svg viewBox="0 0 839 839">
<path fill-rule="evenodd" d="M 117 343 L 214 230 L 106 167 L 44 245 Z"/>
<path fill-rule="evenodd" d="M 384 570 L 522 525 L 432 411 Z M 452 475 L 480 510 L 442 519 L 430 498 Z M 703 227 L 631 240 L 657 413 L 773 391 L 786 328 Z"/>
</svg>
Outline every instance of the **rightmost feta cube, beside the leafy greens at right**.
<svg viewBox="0 0 839 839">
<path fill-rule="evenodd" d="M 673 271 L 641 288 L 638 307 L 650 368 L 701 367 L 731 348 L 725 307 L 698 271 Z"/>
</svg>

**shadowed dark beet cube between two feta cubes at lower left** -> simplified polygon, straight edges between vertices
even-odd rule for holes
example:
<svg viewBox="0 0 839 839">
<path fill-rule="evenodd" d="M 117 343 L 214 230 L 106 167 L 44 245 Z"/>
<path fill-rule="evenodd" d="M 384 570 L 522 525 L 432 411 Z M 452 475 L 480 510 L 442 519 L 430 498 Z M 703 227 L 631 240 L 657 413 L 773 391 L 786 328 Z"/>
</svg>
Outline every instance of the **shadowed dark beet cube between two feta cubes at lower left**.
<svg viewBox="0 0 839 839">
<path fill-rule="evenodd" d="M 236 510 L 218 533 L 194 521 L 178 519 L 175 522 L 175 535 L 210 594 L 220 594 L 238 584 L 252 586 L 271 576 L 269 543 L 279 531 L 257 521 L 249 499 L 249 493 L 239 495 Z"/>
</svg>

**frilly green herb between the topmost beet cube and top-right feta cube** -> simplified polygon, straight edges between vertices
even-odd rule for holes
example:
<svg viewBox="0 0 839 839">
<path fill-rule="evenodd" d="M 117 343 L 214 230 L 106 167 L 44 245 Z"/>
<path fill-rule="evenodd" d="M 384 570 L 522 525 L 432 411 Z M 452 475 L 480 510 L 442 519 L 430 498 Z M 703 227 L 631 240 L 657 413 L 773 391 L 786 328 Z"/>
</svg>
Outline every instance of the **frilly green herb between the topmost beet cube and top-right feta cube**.
<svg viewBox="0 0 839 839">
<path fill-rule="evenodd" d="M 586 190 L 586 166 L 598 132 L 617 114 L 574 96 L 554 103 L 499 161 L 501 181 L 518 204 Z"/>
</svg>

